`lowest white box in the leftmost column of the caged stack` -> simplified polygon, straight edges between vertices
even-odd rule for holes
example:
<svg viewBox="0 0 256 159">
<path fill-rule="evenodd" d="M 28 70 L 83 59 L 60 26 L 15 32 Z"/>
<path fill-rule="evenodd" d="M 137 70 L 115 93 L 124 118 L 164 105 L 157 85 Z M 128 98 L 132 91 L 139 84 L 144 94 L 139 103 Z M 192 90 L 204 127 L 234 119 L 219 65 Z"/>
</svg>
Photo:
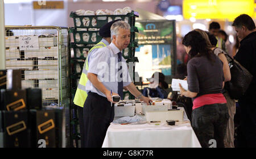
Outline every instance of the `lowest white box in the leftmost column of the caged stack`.
<svg viewBox="0 0 256 159">
<path fill-rule="evenodd" d="M 17 60 L 11 59 L 6 60 L 6 69 L 33 69 L 34 61 L 33 60 Z"/>
</svg>

